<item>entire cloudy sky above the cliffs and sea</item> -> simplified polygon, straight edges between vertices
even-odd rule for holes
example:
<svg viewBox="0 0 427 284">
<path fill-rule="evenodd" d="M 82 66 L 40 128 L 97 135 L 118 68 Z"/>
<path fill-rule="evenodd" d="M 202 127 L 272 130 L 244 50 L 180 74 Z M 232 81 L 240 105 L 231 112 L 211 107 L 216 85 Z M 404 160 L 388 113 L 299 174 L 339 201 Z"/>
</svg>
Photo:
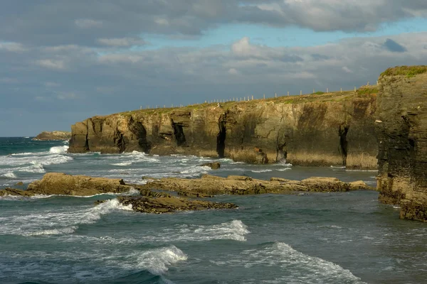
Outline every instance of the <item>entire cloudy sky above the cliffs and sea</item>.
<svg viewBox="0 0 427 284">
<path fill-rule="evenodd" d="M 427 64 L 425 0 L 0 0 L 0 136 Z"/>
</svg>

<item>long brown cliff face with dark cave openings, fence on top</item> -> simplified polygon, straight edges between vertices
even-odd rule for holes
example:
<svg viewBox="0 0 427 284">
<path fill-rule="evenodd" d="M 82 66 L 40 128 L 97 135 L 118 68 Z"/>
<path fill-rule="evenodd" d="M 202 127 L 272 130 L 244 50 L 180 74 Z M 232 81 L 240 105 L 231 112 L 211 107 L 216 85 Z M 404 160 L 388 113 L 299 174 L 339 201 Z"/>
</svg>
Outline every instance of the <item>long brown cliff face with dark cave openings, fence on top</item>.
<svg viewBox="0 0 427 284">
<path fill-rule="evenodd" d="M 72 126 L 68 151 L 375 168 L 375 100 L 344 92 L 95 116 Z"/>
</svg>

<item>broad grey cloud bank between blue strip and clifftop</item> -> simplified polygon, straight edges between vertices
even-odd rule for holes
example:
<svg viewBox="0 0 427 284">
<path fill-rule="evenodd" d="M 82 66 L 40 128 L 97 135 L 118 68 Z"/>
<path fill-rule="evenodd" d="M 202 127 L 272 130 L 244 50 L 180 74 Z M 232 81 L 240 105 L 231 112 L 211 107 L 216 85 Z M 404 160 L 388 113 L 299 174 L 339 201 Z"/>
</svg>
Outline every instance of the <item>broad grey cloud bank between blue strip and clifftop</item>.
<svg viewBox="0 0 427 284">
<path fill-rule="evenodd" d="M 391 53 L 384 47 L 387 39 L 404 43 L 407 52 Z M 375 82 L 387 67 L 422 62 L 427 58 L 426 43 L 427 33 L 406 33 L 294 48 L 259 45 L 246 37 L 207 48 L 110 50 L 28 44 L 22 45 L 23 53 L 0 50 L 0 78 L 16 80 L 0 80 L 0 107 L 25 109 L 28 129 L 59 125 L 51 117 L 67 113 L 61 123 L 68 129 L 95 114 L 148 104 L 353 89 Z M 6 118 L 0 111 L 1 119 Z M 0 132 L 12 135 L 13 129 L 20 129 L 18 123 L 6 124 Z"/>
</svg>

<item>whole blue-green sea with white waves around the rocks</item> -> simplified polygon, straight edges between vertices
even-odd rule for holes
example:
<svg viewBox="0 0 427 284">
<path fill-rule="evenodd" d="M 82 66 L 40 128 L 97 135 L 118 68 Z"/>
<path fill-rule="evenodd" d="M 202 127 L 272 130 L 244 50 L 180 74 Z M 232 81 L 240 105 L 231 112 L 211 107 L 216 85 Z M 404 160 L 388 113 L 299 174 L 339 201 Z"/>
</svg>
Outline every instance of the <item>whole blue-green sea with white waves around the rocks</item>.
<svg viewBox="0 0 427 284">
<path fill-rule="evenodd" d="M 49 172 L 132 183 L 209 173 L 376 184 L 376 171 L 67 148 L 0 138 L 0 189 Z M 200 166 L 214 160 L 221 169 Z M 94 205 L 102 199 L 110 201 Z M 211 200 L 239 208 L 157 215 L 132 212 L 115 195 L 0 197 L 0 283 L 426 283 L 427 224 L 400 220 L 377 192 Z"/>
</svg>

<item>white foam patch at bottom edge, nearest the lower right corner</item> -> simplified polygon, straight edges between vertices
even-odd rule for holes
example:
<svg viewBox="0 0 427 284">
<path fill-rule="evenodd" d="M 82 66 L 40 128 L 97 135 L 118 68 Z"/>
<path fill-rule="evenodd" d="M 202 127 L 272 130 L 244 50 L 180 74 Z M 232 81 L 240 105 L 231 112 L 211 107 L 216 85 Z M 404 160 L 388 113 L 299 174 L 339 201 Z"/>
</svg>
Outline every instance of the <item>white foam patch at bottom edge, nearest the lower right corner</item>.
<svg viewBox="0 0 427 284">
<path fill-rule="evenodd" d="M 349 270 L 325 259 L 308 256 L 282 242 L 269 244 L 263 249 L 246 250 L 239 256 L 212 262 L 220 266 L 265 267 L 266 270 L 269 267 L 280 267 L 280 277 L 264 279 L 278 281 L 277 283 L 363 283 Z"/>
</svg>

